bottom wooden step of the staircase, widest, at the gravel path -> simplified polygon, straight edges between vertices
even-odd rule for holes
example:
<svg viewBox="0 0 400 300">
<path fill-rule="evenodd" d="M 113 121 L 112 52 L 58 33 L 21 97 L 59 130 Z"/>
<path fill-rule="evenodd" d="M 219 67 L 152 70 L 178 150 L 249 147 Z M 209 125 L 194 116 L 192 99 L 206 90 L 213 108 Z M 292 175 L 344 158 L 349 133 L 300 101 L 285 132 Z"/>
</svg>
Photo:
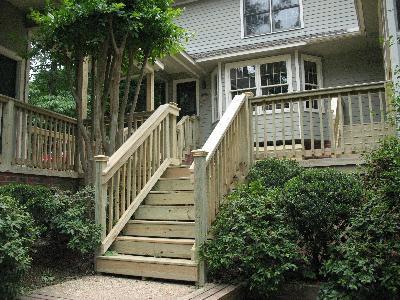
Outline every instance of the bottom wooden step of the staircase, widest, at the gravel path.
<svg viewBox="0 0 400 300">
<path fill-rule="evenodd" d="M 96 258 L 96 271 L 128 276 L 197 281 L 197 264 L 188 259 L 133 255 L 99 256 Z"/>
</svg>

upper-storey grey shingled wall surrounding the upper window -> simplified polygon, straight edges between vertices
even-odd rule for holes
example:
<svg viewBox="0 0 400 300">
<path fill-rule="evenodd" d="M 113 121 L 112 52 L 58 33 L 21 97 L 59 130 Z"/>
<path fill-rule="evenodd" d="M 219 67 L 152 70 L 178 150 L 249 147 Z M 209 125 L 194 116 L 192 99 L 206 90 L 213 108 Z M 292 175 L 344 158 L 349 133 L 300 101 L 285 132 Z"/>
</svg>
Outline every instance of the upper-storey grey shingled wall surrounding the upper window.
<svg viewBox="0 0 400 300">
<path fill-rule="evenodd" d="M 359 30 L 354 1 L 303 0 L 304 28 L 242 38 L 240 1 L 202 0 L 182 5 L 185 9 L 178 23 L 194 33 L 187 45 L 189 54 L 194 57 L 217 55 L 224 49 L 246 50 L 265 47 L 264 43 L 288 44 L 293 39 Z"/>
</svg>

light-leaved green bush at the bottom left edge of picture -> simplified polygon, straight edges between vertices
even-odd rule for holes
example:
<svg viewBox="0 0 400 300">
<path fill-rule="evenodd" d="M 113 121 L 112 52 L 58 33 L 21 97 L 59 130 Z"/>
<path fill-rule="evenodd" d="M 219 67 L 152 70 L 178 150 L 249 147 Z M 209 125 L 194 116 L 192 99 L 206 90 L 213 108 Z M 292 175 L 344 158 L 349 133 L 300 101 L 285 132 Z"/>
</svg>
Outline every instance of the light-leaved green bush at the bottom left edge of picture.
<svg viewBox="0 0 400 300">
<path fill-rule="evenodd" d="M 32 216 L 18 201 L 0 196 L 0 295 L 12 299 L 31 264 L 30 252 L 38 237 Z"/>
</svg>

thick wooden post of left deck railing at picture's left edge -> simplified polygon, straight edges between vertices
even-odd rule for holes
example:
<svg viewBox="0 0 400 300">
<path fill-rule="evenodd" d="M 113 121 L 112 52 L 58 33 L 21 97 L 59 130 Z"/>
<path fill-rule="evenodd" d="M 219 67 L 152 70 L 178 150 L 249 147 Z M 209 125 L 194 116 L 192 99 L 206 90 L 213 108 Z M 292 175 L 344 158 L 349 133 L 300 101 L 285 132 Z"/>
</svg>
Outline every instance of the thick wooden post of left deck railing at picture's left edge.
<svg viewBox="0 0 400 300">
<path fill-rule="evenodd" d="M 14 161 L 15 144 L 16 144 L 16 130 L 15 124 L 17 123 L 15 117 L 14 101 L 9 100 L 5 106 L 3 114 L 3 139 L 2 139 L 2 165 L 10 169 Z"/>
</svg>

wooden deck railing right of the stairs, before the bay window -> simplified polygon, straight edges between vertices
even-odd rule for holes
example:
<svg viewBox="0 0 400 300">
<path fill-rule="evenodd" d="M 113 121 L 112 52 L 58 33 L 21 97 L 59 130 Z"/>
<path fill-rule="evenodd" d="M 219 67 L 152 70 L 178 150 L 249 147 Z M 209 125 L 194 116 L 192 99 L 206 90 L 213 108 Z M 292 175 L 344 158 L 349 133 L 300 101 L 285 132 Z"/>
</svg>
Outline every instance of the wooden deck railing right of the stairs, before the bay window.
<svg viewBox="0 0 400 300">
<path fill-rule="evenodd" d="M 255 157 L 359 155 L 393 132 L 385 83 L 251 99 Z"/>
</svg>

